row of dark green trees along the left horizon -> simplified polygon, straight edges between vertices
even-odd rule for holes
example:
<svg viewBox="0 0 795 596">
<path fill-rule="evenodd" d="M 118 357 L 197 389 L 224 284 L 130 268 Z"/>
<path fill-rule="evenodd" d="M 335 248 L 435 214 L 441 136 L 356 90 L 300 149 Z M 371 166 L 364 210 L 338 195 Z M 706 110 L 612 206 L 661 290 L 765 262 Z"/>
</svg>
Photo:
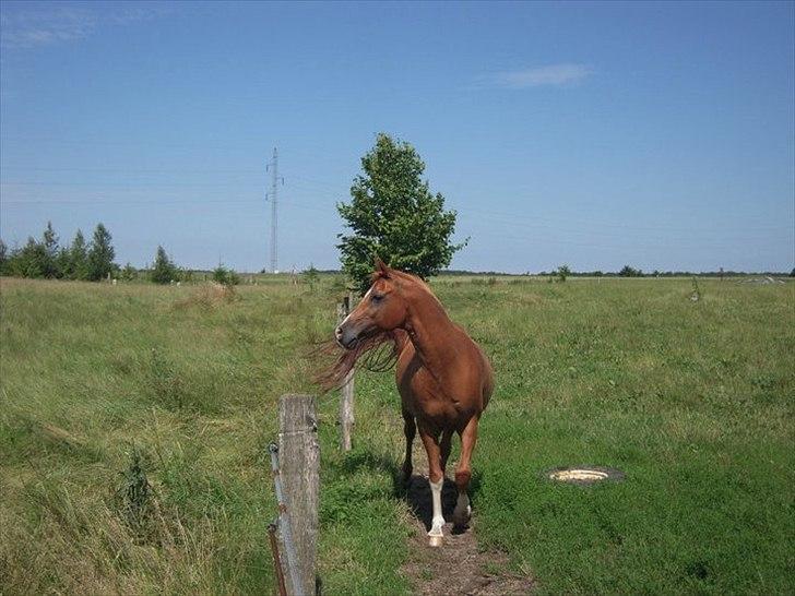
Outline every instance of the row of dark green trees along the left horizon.
<svg viewBox="0 0 795 596">
<path fill-rule="evenodd" d="M 120 267 L 114 262 L 116 250 L 111 240 L 112 236 L 100 223 L 90 242 L 79 229 L 70 243 L 61 245 L 52 223 L 47 222 L 41 238 L 31 236 L 22 247 L 9 250 L 0 239 L 0 275 L 85 282 L 147 279 L 155 284 L 193 281 L 194 273 L 177 266 L 162 246 L 157 247 L 151 269 L 139 270 L 130 263 Z M 213 270 L 211 277 L 224 285 L 240 283 L 240 276 L 222 264 Z"/>
</svg>

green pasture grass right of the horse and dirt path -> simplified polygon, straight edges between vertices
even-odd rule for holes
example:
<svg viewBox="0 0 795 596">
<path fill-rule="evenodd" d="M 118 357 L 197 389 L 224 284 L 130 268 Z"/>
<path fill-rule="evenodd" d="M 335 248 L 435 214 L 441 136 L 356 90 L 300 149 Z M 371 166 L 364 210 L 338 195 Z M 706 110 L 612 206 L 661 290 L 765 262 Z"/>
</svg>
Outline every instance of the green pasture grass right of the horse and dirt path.
<svg viewBox="0 0 795 596">
<path fill-rule="evenodd" d="M 690 281 L 440 291 L 498 378 L 478 531 L 549 594 L 791 594 L 794 285 Z M 489 308 L 491 305 L 491 308 Z M 622 484 L 556 486 L 602 464 Z"/>
</svg>

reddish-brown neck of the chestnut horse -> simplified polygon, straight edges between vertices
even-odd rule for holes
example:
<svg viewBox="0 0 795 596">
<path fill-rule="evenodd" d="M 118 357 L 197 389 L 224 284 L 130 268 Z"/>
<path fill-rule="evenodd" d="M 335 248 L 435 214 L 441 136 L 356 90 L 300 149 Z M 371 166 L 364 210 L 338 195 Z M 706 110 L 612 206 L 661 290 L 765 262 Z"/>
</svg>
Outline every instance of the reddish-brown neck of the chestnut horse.
<svg viewBox="0 0 795 596">
<path fill-rule="evenodd" d="M 450 349 L 446 348 L 455 326 L 441 303 L 427 290 L 417 290 L 408 302 L 405 330 L 425 367 L 442 379 L 449 366 Z"/>
</svg>

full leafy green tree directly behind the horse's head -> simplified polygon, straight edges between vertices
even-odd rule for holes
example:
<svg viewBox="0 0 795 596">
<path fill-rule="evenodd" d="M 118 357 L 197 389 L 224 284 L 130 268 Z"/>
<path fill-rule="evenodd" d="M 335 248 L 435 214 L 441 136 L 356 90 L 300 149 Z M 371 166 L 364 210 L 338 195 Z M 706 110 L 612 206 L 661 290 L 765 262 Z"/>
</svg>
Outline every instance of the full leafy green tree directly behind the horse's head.
<svg viewBox="0 0 795 596">
<path fill-rule="evenodd" d="M 381 133 L 351 187 L 352 202 L 337 204 L 352 230 L 337 236 L 343 271 L 364 290 L 375 257 L 423 278 L 449 265 L 466 241 L 450 242 L 455 211 L 444 211 L 444 198 L 430 192 L 415 148 Z"/>
</svg>

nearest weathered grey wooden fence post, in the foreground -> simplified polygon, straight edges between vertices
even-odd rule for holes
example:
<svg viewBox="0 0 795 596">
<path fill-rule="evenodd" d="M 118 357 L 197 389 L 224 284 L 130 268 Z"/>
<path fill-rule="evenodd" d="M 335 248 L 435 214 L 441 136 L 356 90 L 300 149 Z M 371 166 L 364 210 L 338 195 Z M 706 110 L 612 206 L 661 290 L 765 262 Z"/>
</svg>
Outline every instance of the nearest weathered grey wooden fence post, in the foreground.
<svg viewBox="0 0 795 596">
<path fill-rule="evenodd" d="M 278 400 L 280 476 L 296 550 L 297 573 L 287 573 L 288 593 L 316 594 L 320 445 L 312 395 L 282 395 Z M 292 575 L 299 586 L 293 585 Z"/>
</svg>

